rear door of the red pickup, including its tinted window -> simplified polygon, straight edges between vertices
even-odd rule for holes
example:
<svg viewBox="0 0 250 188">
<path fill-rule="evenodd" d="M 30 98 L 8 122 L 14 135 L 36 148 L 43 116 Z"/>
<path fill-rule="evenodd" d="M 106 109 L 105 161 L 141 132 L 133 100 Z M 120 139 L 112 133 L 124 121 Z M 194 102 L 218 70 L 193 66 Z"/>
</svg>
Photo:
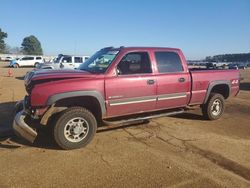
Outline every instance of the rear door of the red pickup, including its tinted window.
<svg viewBox="0 0 250 188">
<path fill-rule="evenodd" d="M 178 52 L 155 51 L 154 55 L 158 69 L 157 109 L 186 106 L 191 90 L 190 75 Z"/>
</svg>

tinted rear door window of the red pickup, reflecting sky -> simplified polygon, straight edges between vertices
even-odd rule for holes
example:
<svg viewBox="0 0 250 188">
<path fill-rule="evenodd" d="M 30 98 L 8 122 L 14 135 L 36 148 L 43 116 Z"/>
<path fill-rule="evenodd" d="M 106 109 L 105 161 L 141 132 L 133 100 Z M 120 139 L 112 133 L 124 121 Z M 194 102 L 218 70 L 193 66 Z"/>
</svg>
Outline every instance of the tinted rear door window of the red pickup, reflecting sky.
<svg viewBox="0 0 250 188">
<path fill-rule="evenodd" d="M 175 52 L 155 52 L 155 58 L 160 73 L 183 71 L 181 59 Z"/>
</svg>

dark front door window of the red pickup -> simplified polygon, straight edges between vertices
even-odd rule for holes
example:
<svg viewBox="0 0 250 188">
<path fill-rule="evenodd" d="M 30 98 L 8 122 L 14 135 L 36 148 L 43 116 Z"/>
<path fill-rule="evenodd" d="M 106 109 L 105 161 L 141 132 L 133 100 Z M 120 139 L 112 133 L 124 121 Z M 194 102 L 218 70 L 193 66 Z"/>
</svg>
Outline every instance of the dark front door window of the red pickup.
<svg viewBox="0 0 250 188">
<path fill-rule="evenodd" d="M 152 73 L 147 52 L 132 52 L 125 55 L 117 66 L 118 75 Z"/>
</svg>

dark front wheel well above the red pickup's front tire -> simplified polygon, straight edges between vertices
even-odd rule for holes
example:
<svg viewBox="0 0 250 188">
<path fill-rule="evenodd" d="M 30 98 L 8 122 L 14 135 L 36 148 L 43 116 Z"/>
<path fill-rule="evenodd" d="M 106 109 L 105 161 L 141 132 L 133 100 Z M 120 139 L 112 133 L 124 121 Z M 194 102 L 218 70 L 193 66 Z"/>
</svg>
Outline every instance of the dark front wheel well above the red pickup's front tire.
<svg viewBox="0 0 250 188">
<path fill-rule="evenodd" d="M 57 101 L 55 107 L 75 107 L 80 106 L 88 109 L 99 122 L 102 119 L 101 106 L 98 100 L 92 96 L 65 98 Z"/>
</svg>

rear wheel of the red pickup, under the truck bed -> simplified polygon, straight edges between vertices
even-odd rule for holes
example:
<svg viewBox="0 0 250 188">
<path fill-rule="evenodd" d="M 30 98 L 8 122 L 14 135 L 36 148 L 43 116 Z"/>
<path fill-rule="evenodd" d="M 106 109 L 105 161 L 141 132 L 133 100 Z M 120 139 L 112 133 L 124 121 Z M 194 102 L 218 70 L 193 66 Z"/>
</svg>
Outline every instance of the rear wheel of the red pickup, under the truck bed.
<svg viewBox="0 0 250 188">
<path fill-rule="evenodd" d="M 225 110 L 224 97 L 219 93 L 211 93 L 207 100 L 207 103 L 202 105 L 201 109 L 205 119 L 219 119 Z"/>
</svg>

